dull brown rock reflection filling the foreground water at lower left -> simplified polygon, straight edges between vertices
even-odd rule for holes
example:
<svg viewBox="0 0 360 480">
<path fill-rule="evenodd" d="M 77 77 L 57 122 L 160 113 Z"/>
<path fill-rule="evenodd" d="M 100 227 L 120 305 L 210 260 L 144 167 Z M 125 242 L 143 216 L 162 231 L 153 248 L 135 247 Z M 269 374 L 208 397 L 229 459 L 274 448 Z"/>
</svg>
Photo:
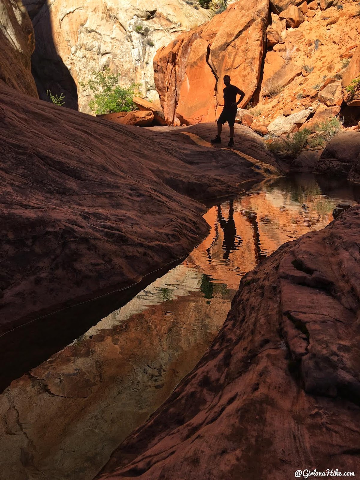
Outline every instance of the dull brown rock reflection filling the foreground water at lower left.
<svg viewBox="0 0 360 480">
<path fill-rule="evenodd" d="M 93 478 L 192 370 L 222 326 L 232 295 L 213 292 L 209 303 L 201 274 L 179 267 L 185 285 L 199 291 L 142 312 L 145 301 L 134 299 L 139 313 L 126 318 L 125 312 L 116 324 L 122 309 L 114 312 L 103 321 L 111 329 L 91 329 L 94 335 L 90 330 L 5 390 L 0 478 L 25 480 L 34 471 L 44 478 Z"/>
</svg>

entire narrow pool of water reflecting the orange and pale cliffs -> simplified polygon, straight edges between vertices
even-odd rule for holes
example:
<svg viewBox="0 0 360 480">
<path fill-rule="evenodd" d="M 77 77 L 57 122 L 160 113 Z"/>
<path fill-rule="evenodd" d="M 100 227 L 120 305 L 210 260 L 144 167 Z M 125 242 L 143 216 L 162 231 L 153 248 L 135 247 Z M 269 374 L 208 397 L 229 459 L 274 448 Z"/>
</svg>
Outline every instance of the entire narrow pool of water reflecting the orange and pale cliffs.
<svg viewBox="0 0 360 480">
<path fill-rule="evenodd" d="M 0 478 L 92 479 L 202 357 L 240 277 L 359 199 L 345 180 L 303 175 L 210 208 L 182 264 L 0 396 Z"/>
</svg>

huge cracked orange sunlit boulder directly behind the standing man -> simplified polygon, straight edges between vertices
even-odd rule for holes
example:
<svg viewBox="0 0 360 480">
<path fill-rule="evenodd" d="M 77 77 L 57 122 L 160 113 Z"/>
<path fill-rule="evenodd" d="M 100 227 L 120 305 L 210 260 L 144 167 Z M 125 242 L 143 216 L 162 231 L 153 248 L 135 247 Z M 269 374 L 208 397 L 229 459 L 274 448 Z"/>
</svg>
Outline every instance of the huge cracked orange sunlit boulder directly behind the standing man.
<svg viewBox="0 0 360 480">
<path fill-rule="evenodd" d="M 260 79 L 267 16 L 266 0 L 240 0 L 157 51 L 154 78 L 169 125 L 215 121 L 226 74 L 245 92 L 241 105 L 249 102 Z"/>
</svg>

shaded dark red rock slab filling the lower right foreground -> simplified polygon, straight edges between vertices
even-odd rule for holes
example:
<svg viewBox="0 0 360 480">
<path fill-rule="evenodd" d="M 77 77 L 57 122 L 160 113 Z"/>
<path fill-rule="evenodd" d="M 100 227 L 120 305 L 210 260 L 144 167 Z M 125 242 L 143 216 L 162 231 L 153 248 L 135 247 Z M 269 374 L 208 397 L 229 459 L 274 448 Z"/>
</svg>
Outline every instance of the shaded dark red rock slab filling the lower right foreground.
<svg viewBox="0 0 360 480">
<path fill-rule="evenodd" d="M 96 478 L 356 472 L 359 234 L 353 207 L 244 276 L 202 360 Z"/>
</svg>

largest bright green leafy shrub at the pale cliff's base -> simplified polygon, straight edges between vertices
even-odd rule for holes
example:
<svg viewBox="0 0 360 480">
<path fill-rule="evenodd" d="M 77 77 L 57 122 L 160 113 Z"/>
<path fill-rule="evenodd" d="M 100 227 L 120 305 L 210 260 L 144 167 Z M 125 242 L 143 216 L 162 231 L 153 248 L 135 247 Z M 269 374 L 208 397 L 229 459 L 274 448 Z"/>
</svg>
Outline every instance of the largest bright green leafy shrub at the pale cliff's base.
<svg viewBox="0 0 360 480">
<path fill-rule="evenodd" d="M 83 87 L 88 87 L 94 94 L 89 102 L 89 107 L 96 115 L 106 113 L 129 112 L 136 110 L 132 98 L 138 94 L 140 84 L 132 84 L 129 88 L 119 85 L 118 73 L 112 73 L 110 69 L 101 72 L 93 72 L 93 78 Z"/>
</svg>

